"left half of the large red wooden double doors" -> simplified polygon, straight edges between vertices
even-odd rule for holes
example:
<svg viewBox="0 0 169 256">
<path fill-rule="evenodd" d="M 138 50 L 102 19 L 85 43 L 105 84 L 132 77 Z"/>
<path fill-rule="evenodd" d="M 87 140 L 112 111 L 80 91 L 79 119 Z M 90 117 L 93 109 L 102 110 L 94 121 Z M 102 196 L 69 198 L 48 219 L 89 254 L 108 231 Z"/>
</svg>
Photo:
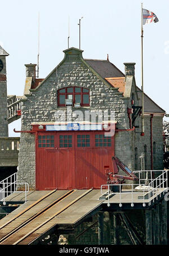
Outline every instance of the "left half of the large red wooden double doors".
<svg viewBox="0 0 169 256">
<path fill-rule="evenodd" d="M 39 134 L 36 143 L 36 189 L 70 189 L 74 182 L 74 135 Z"/>
</svg>

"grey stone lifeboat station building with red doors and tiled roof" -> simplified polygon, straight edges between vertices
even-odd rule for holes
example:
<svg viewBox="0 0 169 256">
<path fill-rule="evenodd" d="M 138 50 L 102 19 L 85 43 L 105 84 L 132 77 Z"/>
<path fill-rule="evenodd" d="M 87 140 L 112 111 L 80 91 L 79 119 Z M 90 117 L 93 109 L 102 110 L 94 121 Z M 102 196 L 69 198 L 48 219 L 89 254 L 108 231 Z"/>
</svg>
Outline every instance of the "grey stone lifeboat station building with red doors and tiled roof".
<svg viewBox="0 0 169 256">
<path fill-rule="evenodd" d="M 36 64 L 25 65 L 17 180 L 29 189 L 100 189 L 113 156 L 135 171 L 144 153 L 145 170 L 163 170 L 165 111 L 144 94 L 140 136 L 135 63 L 124 63 L 122 73 L 108 59 L 83 59 L 82 52 L 65 50 L 45 79 L 36 78 Z"/>
</svg>

